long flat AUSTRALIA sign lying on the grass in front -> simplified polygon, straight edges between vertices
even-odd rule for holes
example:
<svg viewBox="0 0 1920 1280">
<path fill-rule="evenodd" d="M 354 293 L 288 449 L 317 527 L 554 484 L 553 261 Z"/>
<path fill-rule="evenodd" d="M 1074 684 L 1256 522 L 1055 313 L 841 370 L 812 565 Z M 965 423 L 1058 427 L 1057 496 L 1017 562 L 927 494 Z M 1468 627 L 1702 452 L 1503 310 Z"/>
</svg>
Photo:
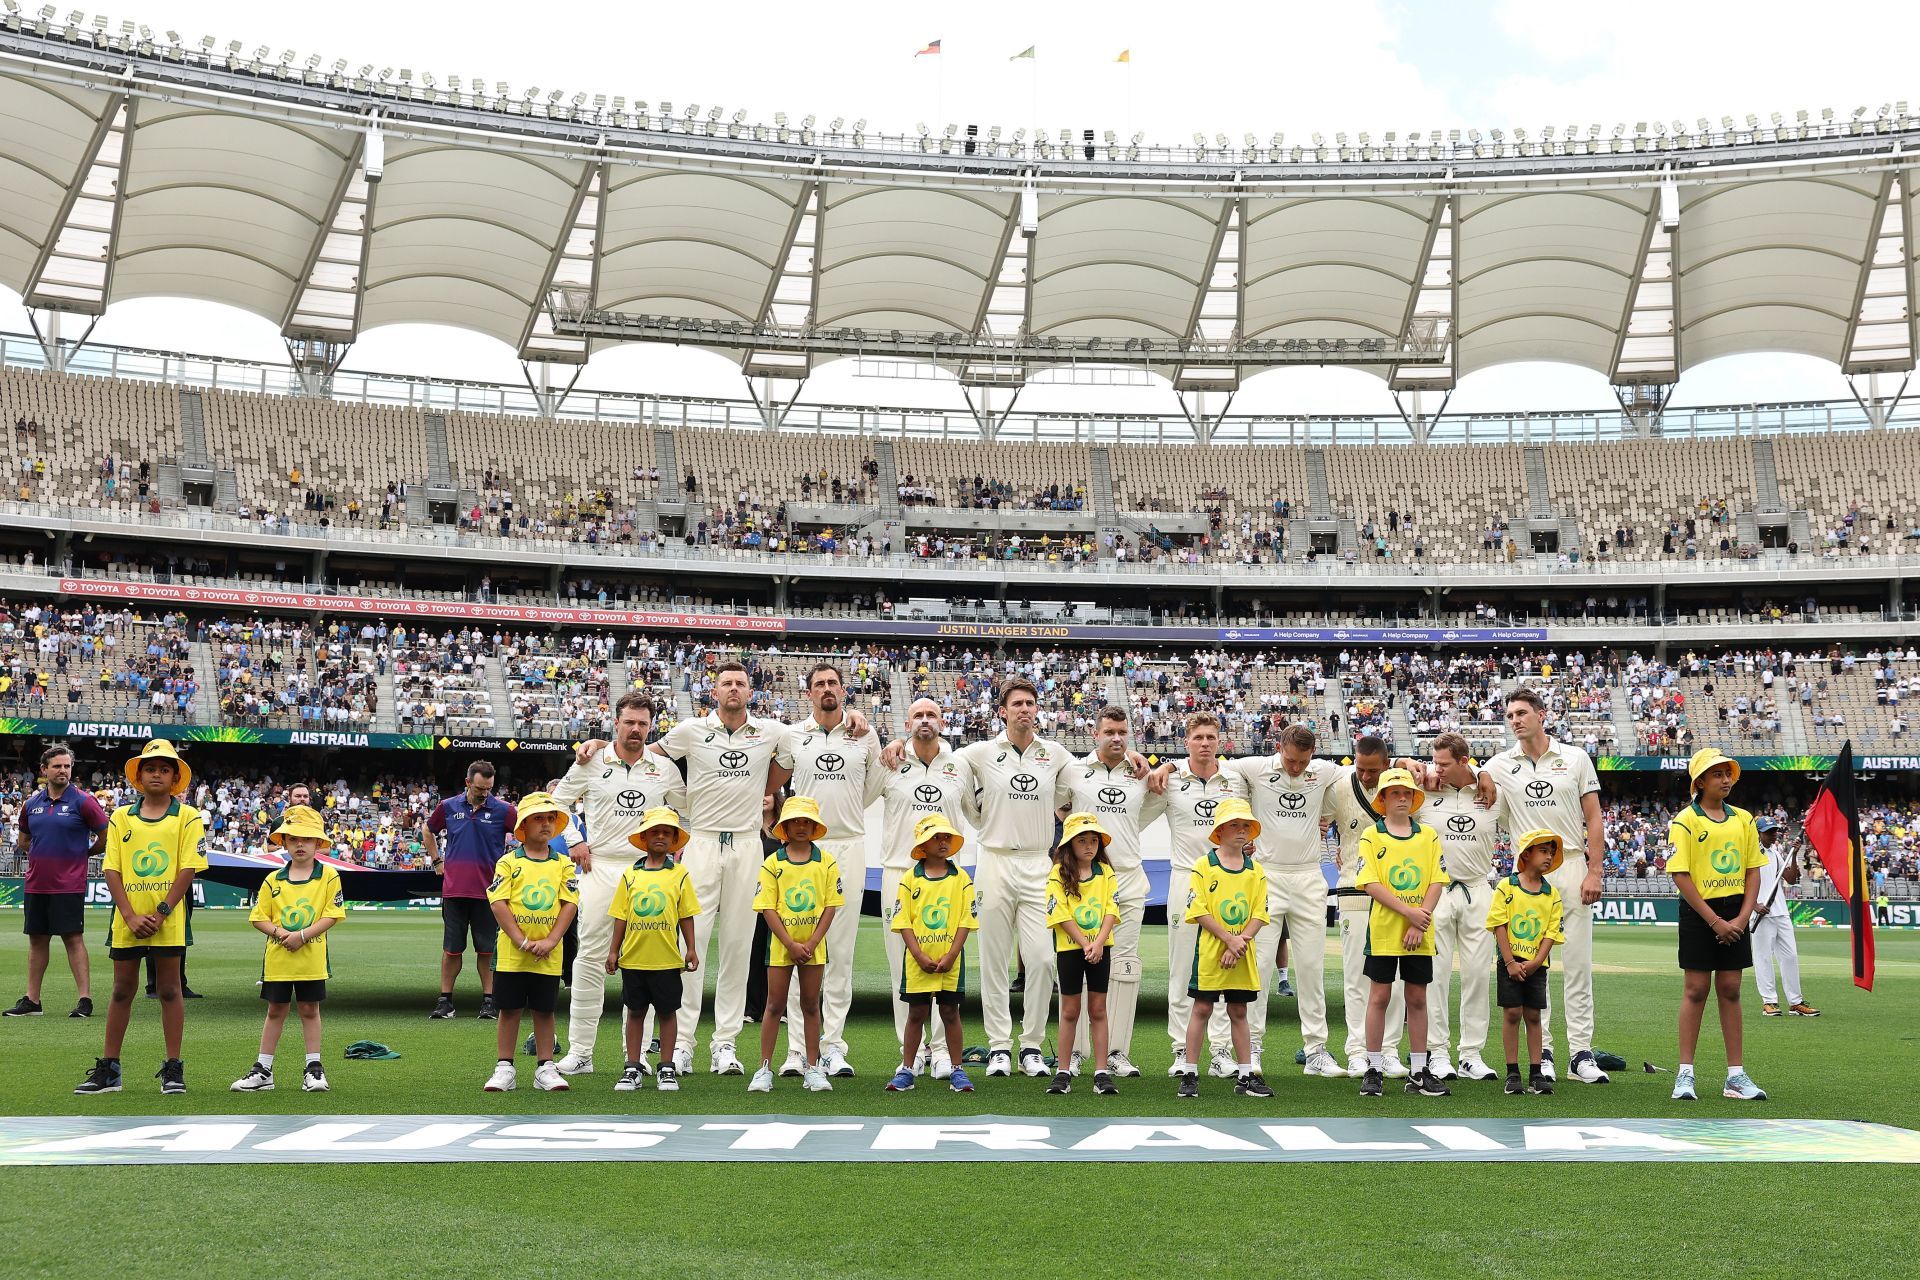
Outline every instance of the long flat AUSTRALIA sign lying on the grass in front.
<svg viewBox="0 0 1920 1280">
<path fill-rule="evenodd" d="M 1699 1161 L 1920 1163 L 1857 1121 L 1037 1119 L 803 1115 L 0 1117 L 0 1165 L 484 1161 Z"/>
</svg>

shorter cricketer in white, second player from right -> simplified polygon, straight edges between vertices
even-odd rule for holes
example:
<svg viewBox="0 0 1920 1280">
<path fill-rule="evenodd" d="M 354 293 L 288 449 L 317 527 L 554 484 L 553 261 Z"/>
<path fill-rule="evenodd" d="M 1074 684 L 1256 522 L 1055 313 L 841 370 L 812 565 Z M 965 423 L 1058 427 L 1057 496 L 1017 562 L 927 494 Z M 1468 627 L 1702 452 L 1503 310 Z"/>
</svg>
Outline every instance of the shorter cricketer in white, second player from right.
<svg viewBox="0 0 1920 1280">
<path fill-rule="evenodd" d="M 1434 773 L 1421 819 L 1440 833 L 1440 864 L 1448 887 L 1434 906 L 1434 981 L 1427 992 L 1427 1069 L 1442 1080 L 1455 1077 L 1448 1052 L 1452 1017 L 1448 990 L 1459 958 L 1459 1073 L 1469 1080 L 1498 1080 L 1486 1063 L 1486 1032 L 1494 1009 L 1494 961 L 1500 960 L 1486 910 L 1494 900 L 1494 848 L 1500 842 L 1503 802 L 1480 804 L 1471 748 L 1459 733 L 1442 733 L 1432 745 Z M 1511 827 L 1511 823 L 1509 823 Z"/>
</svg>

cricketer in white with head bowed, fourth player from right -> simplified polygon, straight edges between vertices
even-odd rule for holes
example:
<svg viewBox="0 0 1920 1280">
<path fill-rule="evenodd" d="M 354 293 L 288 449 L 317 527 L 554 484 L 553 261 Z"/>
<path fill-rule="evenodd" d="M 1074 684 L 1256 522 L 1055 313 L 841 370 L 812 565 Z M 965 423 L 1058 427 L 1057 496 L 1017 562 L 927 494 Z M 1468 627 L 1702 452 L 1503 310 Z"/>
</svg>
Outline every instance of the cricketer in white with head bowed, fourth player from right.
<svg viewBox="0 0 1920 1280">
<path fill-rule="evenodd" d="M 1300 992 L 1300 1040 L 1306 1073 L 1344 1075 L 1327 1052 L 1327 877 L 1321 873 L 1321 810 L 1338 781 L 1338 768 L 1313 758 L 1313 731 L 1288 725 L 1281 731 L 1275 756 L 1246 756 L 1227 768 L 1246 785 L 1254 818 L 1260 819 L 1260 865 L 1267 869 L 1267 915 L 1271 927 L 1254 935 L 1260 996 L 1246 1011 L 1254 1040 L 1254 1063 L 1267 1036 L 1267 992 L 1281 952 L 1283 925 L 1292 936 L 1294 988 Z M 1357 971 L 1357 965 L 1356 965 Z M 1198 1063 L 1194 1063 L 1198 1065 Z M 1213 1046 L 1208 1075 L 1233 1075 L 1233 1054 Z"/>
</svg>

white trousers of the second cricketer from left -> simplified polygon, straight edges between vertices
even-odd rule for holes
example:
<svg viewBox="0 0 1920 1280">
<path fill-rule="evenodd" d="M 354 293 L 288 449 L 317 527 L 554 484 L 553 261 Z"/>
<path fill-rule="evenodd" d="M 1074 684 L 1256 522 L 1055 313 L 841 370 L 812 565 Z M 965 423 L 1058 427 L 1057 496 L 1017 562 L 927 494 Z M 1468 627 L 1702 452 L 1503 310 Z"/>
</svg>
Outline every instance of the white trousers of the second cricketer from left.
<svg viewBox="0 0 1920 1280">
<path fill-rule="evenodd" d="M 693 952 L 714 979 L 712 1048 L 733 1048 L 747 1021 L 747 965 L 753 963 L 753 894 L 760 887 L 758 831 L 695 831 L 682 850 L 701 913 L 693 921 Z M 707 942 L 720 931 L 720 946 Z M 693 1052 L 699 1040 L 705 975 L 689 975 L 674 1023 L 678 1048 Z"/>
</svg>

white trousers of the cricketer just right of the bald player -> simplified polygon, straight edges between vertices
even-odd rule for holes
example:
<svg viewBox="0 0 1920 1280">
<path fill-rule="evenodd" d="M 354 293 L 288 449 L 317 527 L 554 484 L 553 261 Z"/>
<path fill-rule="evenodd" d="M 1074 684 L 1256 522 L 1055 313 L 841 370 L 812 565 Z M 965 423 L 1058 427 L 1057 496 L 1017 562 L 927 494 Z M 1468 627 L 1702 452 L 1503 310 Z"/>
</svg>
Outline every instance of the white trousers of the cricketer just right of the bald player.
<svg viewBox="0 0 1920 1280">
<path fill-rule="evenodd" d="M 1046 1044 L 1054 1004 L 1054 940 L 1046 927 L 1046 875 L 1052 858 L 1012 848 L 981 848 L 973 873 L 979 908 L 979 1004 L 987 1048 L 1014 1048 L 1014 952 L 1027 965 L 1020 1048 Z"/>
</svg>

